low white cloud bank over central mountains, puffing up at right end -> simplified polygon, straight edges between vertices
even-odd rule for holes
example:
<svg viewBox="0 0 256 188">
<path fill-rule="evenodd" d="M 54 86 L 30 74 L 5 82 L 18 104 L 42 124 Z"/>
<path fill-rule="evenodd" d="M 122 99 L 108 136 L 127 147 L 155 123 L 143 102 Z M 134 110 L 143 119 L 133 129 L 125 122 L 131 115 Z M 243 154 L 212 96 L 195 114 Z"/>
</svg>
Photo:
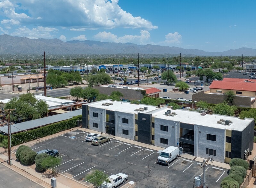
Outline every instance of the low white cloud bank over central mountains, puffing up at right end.
<svg viewBox="0 0 256 188">
<path fill-rule="evenodd" d="M 99 32 L 94 35 L 94 38 L 101 42 L 113 42 L 113 43 L 135 43 L 139 45 L 144 45 L 150 43 L 150 33 L 145 30 L 140 31 L 140 35 L 124 35 L 118 37 L 111 32 Z"/>
</svg>

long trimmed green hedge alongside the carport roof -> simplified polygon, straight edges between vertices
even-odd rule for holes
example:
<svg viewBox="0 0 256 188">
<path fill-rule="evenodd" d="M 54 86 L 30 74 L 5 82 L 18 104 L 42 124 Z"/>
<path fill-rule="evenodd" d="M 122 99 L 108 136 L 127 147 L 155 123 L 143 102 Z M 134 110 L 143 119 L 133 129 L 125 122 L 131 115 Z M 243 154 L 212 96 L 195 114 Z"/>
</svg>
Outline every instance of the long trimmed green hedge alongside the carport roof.
<svg viewBox="0 0 256 188">
<path fill-rule="evenodd" d="M 82 115 L 78 115 L 72 119 L 60 121 L 37 129 L 28 130 L 26 132 L 12 134 L 12 146 L 20 145 L 37 138 L 46 137 L 67 129 L 77 127 L 78 120 L 82 120 Z M 7 136 L 0 135 L 0 142 L 2 142 L 4 138 L 7 138 Z"/>
</svg>

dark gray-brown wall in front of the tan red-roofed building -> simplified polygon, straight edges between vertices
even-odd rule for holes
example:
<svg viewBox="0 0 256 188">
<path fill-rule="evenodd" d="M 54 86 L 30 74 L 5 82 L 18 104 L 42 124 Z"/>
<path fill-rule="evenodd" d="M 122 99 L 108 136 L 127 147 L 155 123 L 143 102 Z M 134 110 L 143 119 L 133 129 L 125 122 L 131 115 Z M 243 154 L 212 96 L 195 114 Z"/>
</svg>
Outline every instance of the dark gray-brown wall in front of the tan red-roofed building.
<svg viewBox="0 0 256 188">
<path fill-rule="evenodd" d="M 206 101 L 207 103 L 211 104 L 219 104 L 222 103 L 223 101 L 227 100 L 226 95 L 218 95 L 218 94 L 210 94 L 210 93 L 204 93 L 204 91 L 197 92 L 192 95 L 192 99 L 196 101 Z M 232 105 L 230 102 L 228 102 L 229 105 Z M 250 97 L 240 97 L 240 96 L 235 96 L 234 101 L 233 101 L 234 106 L 239 106 L 239 107 L 251 107 L 251 98 Z"/>
</svg>

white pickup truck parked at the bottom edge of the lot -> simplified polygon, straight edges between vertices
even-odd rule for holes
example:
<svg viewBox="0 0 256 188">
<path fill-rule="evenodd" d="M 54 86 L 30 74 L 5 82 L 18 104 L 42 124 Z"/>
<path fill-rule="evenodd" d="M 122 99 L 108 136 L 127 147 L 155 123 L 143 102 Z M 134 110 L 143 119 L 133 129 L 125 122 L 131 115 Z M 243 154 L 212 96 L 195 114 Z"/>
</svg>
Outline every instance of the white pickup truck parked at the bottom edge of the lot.
<svg viewBox="0 0 256 188">
<path fill-rule="evenodd" d="M 115 188 L 122 182 L 126 182 L 128 176 L 123 173 L 119 173 L 117 175 L 111 175 L 105 179 L 105 181 L 101 184 L 100 188 Z"/>
</svg>

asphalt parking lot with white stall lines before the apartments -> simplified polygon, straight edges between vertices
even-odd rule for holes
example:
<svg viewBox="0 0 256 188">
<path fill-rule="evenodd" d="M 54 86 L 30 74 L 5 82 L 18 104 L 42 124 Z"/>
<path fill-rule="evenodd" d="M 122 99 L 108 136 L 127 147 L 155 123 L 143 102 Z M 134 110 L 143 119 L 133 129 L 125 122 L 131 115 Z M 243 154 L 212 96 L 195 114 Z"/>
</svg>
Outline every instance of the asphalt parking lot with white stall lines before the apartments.
<svg viewBox="0 0 256 188">
<path fill-rule="evenodd" d="M 203 168 L 196 161 L 182 157 L 169 166 L 157 164 L 158 151 L 110 139 L 102 145 L 92 145 L 85 140 L 89 132 L 70 131 L 34 145 L 33 151 L 57 149 L 61 174 L 82 181 L 91 170 L 99 169 L 108 176 L 124 173 L 128 182 L 136 182 L 136 187 L 192 187 L 194 177 L 203 177 Z M 206 183 L 208 187 L 220 187 L 227 176 L 227 169 L 220 169 L 208 163 Z"/>
</svg>

